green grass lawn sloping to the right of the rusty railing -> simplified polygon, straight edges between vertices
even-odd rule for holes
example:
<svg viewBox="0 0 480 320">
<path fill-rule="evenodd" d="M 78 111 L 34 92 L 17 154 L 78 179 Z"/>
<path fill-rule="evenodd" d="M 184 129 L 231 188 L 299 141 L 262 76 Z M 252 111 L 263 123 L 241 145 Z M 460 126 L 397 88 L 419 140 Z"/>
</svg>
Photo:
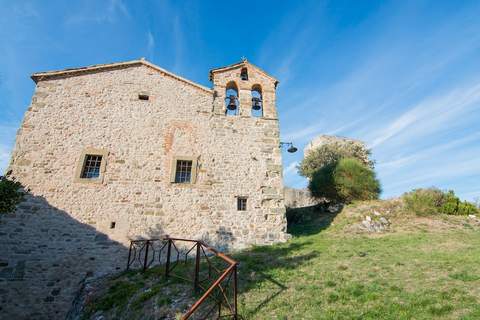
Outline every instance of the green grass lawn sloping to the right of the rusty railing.
<svg viewBox="0 0 480 320">
<path fill-rule="evenodd" d="M 349 235 L 331 219 L 240 253 L 245 319 L 479 319 L 480 233 Z"/>
</svg>

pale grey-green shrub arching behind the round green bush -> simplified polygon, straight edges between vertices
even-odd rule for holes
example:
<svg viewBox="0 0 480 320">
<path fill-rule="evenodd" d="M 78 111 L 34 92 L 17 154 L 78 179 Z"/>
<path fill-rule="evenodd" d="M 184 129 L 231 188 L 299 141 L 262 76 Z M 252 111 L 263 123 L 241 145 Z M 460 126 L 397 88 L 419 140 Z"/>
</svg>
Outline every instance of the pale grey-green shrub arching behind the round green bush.
<svg viewBox="0 0 480 320">
<path fill-rule="evenodd" d="M 299 173 L 307 178 L 331 164 L 336 164 L 342 158 L 355 158 L 365 166 L 374 168 L 374 162 L 369 159 L 370 150 L 360 141 L 331 140 L 311 150 L 300 163 Z"/>
</svg>

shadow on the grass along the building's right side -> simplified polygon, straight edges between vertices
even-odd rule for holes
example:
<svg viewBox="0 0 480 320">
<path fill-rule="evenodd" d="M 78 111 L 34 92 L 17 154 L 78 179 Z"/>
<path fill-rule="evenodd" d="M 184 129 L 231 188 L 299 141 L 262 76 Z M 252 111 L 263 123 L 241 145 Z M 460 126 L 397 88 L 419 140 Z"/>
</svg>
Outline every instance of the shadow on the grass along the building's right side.
<svg viewBox="0 0 480 320">
<path fill-rule="evenodd" d="M 295 237 L 317 234 L 327 229 L 337 214 L 342 210 L 331 212 L 327 204 L 288 208 L 288 233 Z M 288 286 L 282 283 L 281 274 L 287 270 L 300 268 L 322 253 L 306 249 L 312 240 L 290 241 L 275 246 L 262 246 L 244 250 L 234 257 L 240 262 L 240 294 L 255 296 L 255 301 L 240 302 L 242 316 L 261 318 L 262 310 L 278 298 Z M 245 297 L 251 299 L 251 297 Z"/>
</svg>

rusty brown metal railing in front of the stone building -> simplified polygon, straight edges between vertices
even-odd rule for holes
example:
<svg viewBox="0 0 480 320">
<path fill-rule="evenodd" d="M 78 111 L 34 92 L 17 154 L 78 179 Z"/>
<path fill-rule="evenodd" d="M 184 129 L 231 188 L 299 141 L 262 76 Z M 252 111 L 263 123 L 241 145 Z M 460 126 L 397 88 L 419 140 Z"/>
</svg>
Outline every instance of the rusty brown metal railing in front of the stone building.
<svg viewBox="0 0 480 320">
<path fill-rule="evenodd" d="M 175 271 L 179 264 L 186 266 L 183 273 Z M 238 262 L 232 258 L 200 240 L 170 237 L 132 240 L 127 270 L 146 271 L 153 266 L 164 267 L 166 279 L 175 277 L 192 282 L 195 292 L 201 293 L 182 319 L 238 319 Z"/>
</svg>

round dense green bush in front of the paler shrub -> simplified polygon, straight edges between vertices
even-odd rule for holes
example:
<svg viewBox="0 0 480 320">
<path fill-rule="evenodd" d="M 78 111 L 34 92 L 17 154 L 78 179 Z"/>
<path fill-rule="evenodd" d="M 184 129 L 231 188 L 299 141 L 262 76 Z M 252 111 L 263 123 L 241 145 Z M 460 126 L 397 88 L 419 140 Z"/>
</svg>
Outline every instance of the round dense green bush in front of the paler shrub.
<svg viewBox="0 0 480 320">
<path fill-rule="evenodd" d="M 354 158 L 340 159 L 316 171 L 309 189 L 315 197 L 342 203 L 378 199 L 381 192 L 375 172 Z"/>
</svg>

